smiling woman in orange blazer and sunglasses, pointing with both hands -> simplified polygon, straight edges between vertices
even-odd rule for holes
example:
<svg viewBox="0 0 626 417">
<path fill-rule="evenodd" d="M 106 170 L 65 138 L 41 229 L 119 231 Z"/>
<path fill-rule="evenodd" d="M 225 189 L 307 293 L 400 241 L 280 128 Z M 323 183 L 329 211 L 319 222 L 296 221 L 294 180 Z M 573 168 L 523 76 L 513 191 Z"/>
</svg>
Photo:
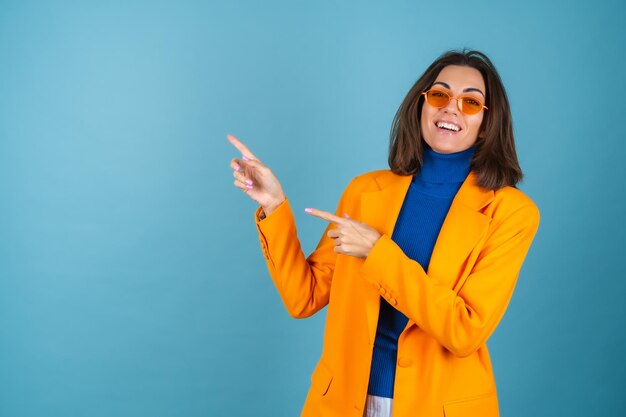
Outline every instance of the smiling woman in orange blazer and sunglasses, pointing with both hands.
<svg viewBox="0 0 626 417">
<path fill-rule="evenodd" d="M 261 207 L 270 275 L 294 317 L 328 305 L 303 416 L 498 416 L 486 341 L 539 224 L 506 93 L 477 51 L 439 57 L 394 119 L 389 165 L 355 178 L 305 258 L 276 177 L 236 138 L 235 186 Z"/>
</svg>

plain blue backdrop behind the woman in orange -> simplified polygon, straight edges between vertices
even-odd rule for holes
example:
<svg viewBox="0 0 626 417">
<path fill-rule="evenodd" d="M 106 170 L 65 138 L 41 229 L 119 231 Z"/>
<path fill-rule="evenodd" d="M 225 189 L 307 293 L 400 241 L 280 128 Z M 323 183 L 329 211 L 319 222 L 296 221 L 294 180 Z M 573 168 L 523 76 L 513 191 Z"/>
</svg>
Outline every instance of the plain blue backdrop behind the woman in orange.
<svg viewBox="0 0 626 417">
<path fill-rule="evenodd" d="M 104 4 L 108 3 L 108 4 Z M 0 415 L 295 416 L 324 312 L 268 276 L 234 133 L 305 251 L 386 167 L 404 95 L 473 47 L 542 223 L 490 340 L 505 416 L 626 413 L 626 3 L 0 2 Z"/>
</svg>

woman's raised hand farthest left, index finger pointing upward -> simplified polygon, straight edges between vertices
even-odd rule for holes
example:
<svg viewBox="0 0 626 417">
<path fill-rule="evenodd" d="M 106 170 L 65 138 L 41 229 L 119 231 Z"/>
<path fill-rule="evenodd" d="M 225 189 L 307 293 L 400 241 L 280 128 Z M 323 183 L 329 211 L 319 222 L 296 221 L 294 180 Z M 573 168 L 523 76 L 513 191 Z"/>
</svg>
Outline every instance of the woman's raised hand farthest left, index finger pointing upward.
<svg viewBox="0 0 626 417">
<path fill-rule="evenodd" d="M 274 173 L 233 135 L 226 135 L 228 141 L 241 152 L 241 160 L 233 158 L 230 167 L 235 177 L 235 187 L 259 203 L 265 216 L 269 216 L 285 201 L 285 193 Z"/>
</svg>

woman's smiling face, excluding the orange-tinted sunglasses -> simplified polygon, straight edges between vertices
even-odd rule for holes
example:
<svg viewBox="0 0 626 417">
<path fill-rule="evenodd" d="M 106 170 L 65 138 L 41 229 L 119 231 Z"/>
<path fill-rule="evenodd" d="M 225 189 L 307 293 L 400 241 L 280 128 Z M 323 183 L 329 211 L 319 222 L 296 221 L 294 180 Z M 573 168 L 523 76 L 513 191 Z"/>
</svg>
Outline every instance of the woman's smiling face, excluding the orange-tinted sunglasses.
<svg viewBox="0 0 626 417">
<path fill-rule="evenodd" d="M 485 81 L 472 67 L 448 65 L 444 67 L 430 88 L 450 94 L 447 106 L 436 108 L 424 102 L 420 119 L 424 140 L 435 152 L 461 152 L 476 143 L 485 109 L 477 114 L 462 113 L 457 100 L 460 95 L 471 96 L 485 103 Z M 424 96 L 421 98 L 424 100 Z"/>
</svg>

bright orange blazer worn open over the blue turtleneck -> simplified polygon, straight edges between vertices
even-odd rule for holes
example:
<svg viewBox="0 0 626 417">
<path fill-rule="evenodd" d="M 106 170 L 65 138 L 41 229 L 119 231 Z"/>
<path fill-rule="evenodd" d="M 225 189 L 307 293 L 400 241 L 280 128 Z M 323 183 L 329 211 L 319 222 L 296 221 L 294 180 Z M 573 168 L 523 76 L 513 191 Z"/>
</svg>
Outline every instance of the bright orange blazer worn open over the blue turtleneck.
<svg viewBox="0 0 626 417">
<path fill-rule="evenodd" d="M 326 233 L 306 258 L 288 201 L 263 220 L 257 211 L 288 312 L 308 317 L 328 305 L 303 417 L 362 417 L 380 297 L 409 318 L 398 340 L 394 417 L 499 415 L 485 343 L 513 294 L 539 211 L 518 189 L 485 190 L 475 179 L 470 173 L 454 198 L 427 271 L 391 240 L 411 176 L 371 172 L 342 195 L 337 215 L 382 234 L 366 259 L 337 255 Z"/>
</svg>

